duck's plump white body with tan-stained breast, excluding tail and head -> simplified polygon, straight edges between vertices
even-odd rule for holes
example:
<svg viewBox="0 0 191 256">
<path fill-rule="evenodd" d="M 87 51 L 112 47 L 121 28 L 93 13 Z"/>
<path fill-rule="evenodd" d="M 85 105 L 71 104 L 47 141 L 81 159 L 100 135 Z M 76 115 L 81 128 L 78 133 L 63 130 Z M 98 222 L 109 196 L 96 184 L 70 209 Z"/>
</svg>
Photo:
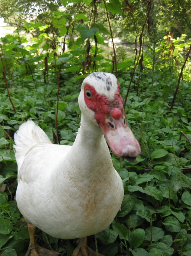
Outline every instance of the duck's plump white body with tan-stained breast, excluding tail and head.
<svg viewBox="0 0 191 256">
<path fill-rule="evenodd" d="M 16 194 L 28 223 L 53 237 L 72 239 L 96 234 L 113 221 L 123 184 L 100 135 L 99 142 L 96 136 L 94 145 L 87 141 L 81 150 L 81 130 L 72 147 L 38 143 L 28 150 Z"/>
</svg>

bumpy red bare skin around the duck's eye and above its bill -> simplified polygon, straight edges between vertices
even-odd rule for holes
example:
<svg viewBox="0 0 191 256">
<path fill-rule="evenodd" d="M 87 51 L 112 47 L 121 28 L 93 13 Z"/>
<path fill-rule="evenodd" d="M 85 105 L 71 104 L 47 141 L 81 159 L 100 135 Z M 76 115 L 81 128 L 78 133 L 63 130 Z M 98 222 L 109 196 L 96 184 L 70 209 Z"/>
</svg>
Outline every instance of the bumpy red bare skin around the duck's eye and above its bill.
<svg viewBox="0 0 191 256">
<path fill-rule="evenodd" d="M 90 86 L 84 86 L 84 100 L 89 109 L 95 112 L 94 118 L 96 119 L 99 127 L 101 125 L 105 125 L 105 118 L 108 114 L 110 114 L 113 118 L 119 119 L 124 111 L 123 111 L 123 101 L 120 95 L 120 86 L 118 84 L 118 90 L 115 93 L 115 99 L 112 103 L 109 102 L 108 98 L 105 95 L 99 95 L 96 90 Z M 86 96 L 86 90 L 90 90 L 92 97 L 88 98 Z"/>
</svg>

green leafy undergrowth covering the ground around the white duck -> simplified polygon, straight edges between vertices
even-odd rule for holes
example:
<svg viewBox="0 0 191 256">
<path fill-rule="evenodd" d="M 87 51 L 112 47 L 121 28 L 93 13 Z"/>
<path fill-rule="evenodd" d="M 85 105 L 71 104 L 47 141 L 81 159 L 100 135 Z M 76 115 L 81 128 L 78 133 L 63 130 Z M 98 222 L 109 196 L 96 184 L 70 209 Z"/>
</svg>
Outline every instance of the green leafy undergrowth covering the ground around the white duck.
<svg viewBox="0 0 191 256">
<path fill-rule="evenodd" d="M 80 8 L 90 3 L 83 1 Z M 115 10 L 112 1 L 109 3 L 111 14 L 121 15 L 121 2 Z M 98 10 L 102 13 L 104 6 L 99 4 Z M 66 8 L 71 11 L 70 5 Z M 153 7 L 152 15 L 154 10 Z M 54 11 L 53 23 L 47 18 L 28 23 L 23 20 L 13 35 L 1 38 L 3 61 L 0 70 L 6 73 L 0 77 L 2 256 L 23 256 L 28 248 L 26 222 L 15 201 L 17 165 L 12 148 L 13 135 L 28 118 L 36 122 L 51 141 L 53 132 L 57 134 L 55 61 L 60 86 L 58 132 L 60 143 L 64 145 L 73 144 L 80 126 L 77 98 L 83 78 L 94 70 L 111 72 L 113 69 L 114 60 L 108 54 L 111 48 L 103 39 L 109 36 L 109 27 L 96 19 L 93 24 L 90 20 L 91 27 L 88 27 L 88 17 L 82 13 L 69 17 L 66 11 Z M 72 19 L 75 21 L 71 23 L 73 30 L 67 24 Z M 72 37 L 72 33 L 75 36 Z M 88 238 L 90 247 L 96 249 L 98 246 L 98 251 L 106 256 L 191 255 L 190 62 L 185 65 L 170 111 L 189 39 L 186 35 L 176 39 L 171 35 L 158 41 L 150 39 L 145 37 L 146 46 L 135 69 L 125 106 L 127 122 L 142 152 L 131 163 L 111 155 L 124 185 L 121 211 L 108 228 Z M 67 51 L 63 50 L 65 46 Z M 104 47 L 109 49 L 107 53 Z M 127 95 L 135 63 L 134 56 L 127 58 L 127 54 L 122 48 L 117 49 L 117 77 L 123 98 Z M 8 97 L 6 80 L 15 111 Z M 37 230 L 36 239 L 39 245 L 65 256 L 72 255 L 75 247 L 75 241 L 53 238 L 41 230 Z"/>
</svg>

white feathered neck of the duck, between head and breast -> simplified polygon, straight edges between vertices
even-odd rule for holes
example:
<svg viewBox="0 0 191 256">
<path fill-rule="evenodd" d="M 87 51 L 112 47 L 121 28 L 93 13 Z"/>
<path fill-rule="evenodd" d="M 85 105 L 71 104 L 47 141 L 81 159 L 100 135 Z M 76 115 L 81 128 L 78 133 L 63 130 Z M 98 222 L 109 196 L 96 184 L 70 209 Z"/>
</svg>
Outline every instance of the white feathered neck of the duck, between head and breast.
<svg viewBox="0 0 191 256">
<path fill-rule="evenodd" d="M 90 123 L 83 115 L 78 135 L 67 156 L 70 163 L 82 168 L 83 172 L 89 172 L 90 169 L 96 172 L 101 169 L 100 166 L 102 169 L 108 166 L 113 168 L 108 145 L 101 129 Z"/>
</svg>

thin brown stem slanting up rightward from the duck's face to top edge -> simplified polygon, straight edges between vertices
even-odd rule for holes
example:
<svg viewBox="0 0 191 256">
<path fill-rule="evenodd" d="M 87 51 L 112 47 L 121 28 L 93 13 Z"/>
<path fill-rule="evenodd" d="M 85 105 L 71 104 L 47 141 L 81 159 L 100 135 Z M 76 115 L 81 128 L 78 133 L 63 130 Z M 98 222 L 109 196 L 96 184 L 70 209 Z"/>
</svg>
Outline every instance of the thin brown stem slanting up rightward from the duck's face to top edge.
<svg viewBox="0 0 191 256">
<path fill-rule="evenodd" d="M 140 37 L 139 37 L 139 55 L 138 55 L 138 58 L 137 58 L 137 62 L 136 64 L 134 65 L 134 68 L 133 68 L 133 73 L 131 75 L 131 80 L 129 82 L 129 86 L 128 86 L 128 89 L 127 89 L 127 94 L 126 94 L 126 97 L 125 97 L 125 100 L 124 100 L 124 109 L 125 109 L 125 106 L 126 106 L 126 103 L 127 103 L 127 97 L 128 97 L 128 94 L 129 94 L 129 90 L 130 90 L 130 87 L 131 87 L 131 83 L 132 83 L 132 80 L 133 80 L 133 77 L 134 77 L 134 73 L 135 73 L 135 69 L 137 68 L 137 64 L 139 63 L 139 58 L 140 58 L 140 54 L 141 54 L 141 46 L 142 46 L 142 36 L 143 36 L 143 31 L 144 31 L 144 27 L 145 27 L 145 24 L 149 18 L 149 14 L 150 14 L 150 11 L 151 11 L 151 2 L 152 0 L 150 0 L 149 2 L 149 8 L 148 8 L 148 12 L 147 12 L 147 17 L 144 21 L 144 24 L 142 26 L 142 31 L 141 31 L 141 34 L 140 34 Z"/>
</svg>

